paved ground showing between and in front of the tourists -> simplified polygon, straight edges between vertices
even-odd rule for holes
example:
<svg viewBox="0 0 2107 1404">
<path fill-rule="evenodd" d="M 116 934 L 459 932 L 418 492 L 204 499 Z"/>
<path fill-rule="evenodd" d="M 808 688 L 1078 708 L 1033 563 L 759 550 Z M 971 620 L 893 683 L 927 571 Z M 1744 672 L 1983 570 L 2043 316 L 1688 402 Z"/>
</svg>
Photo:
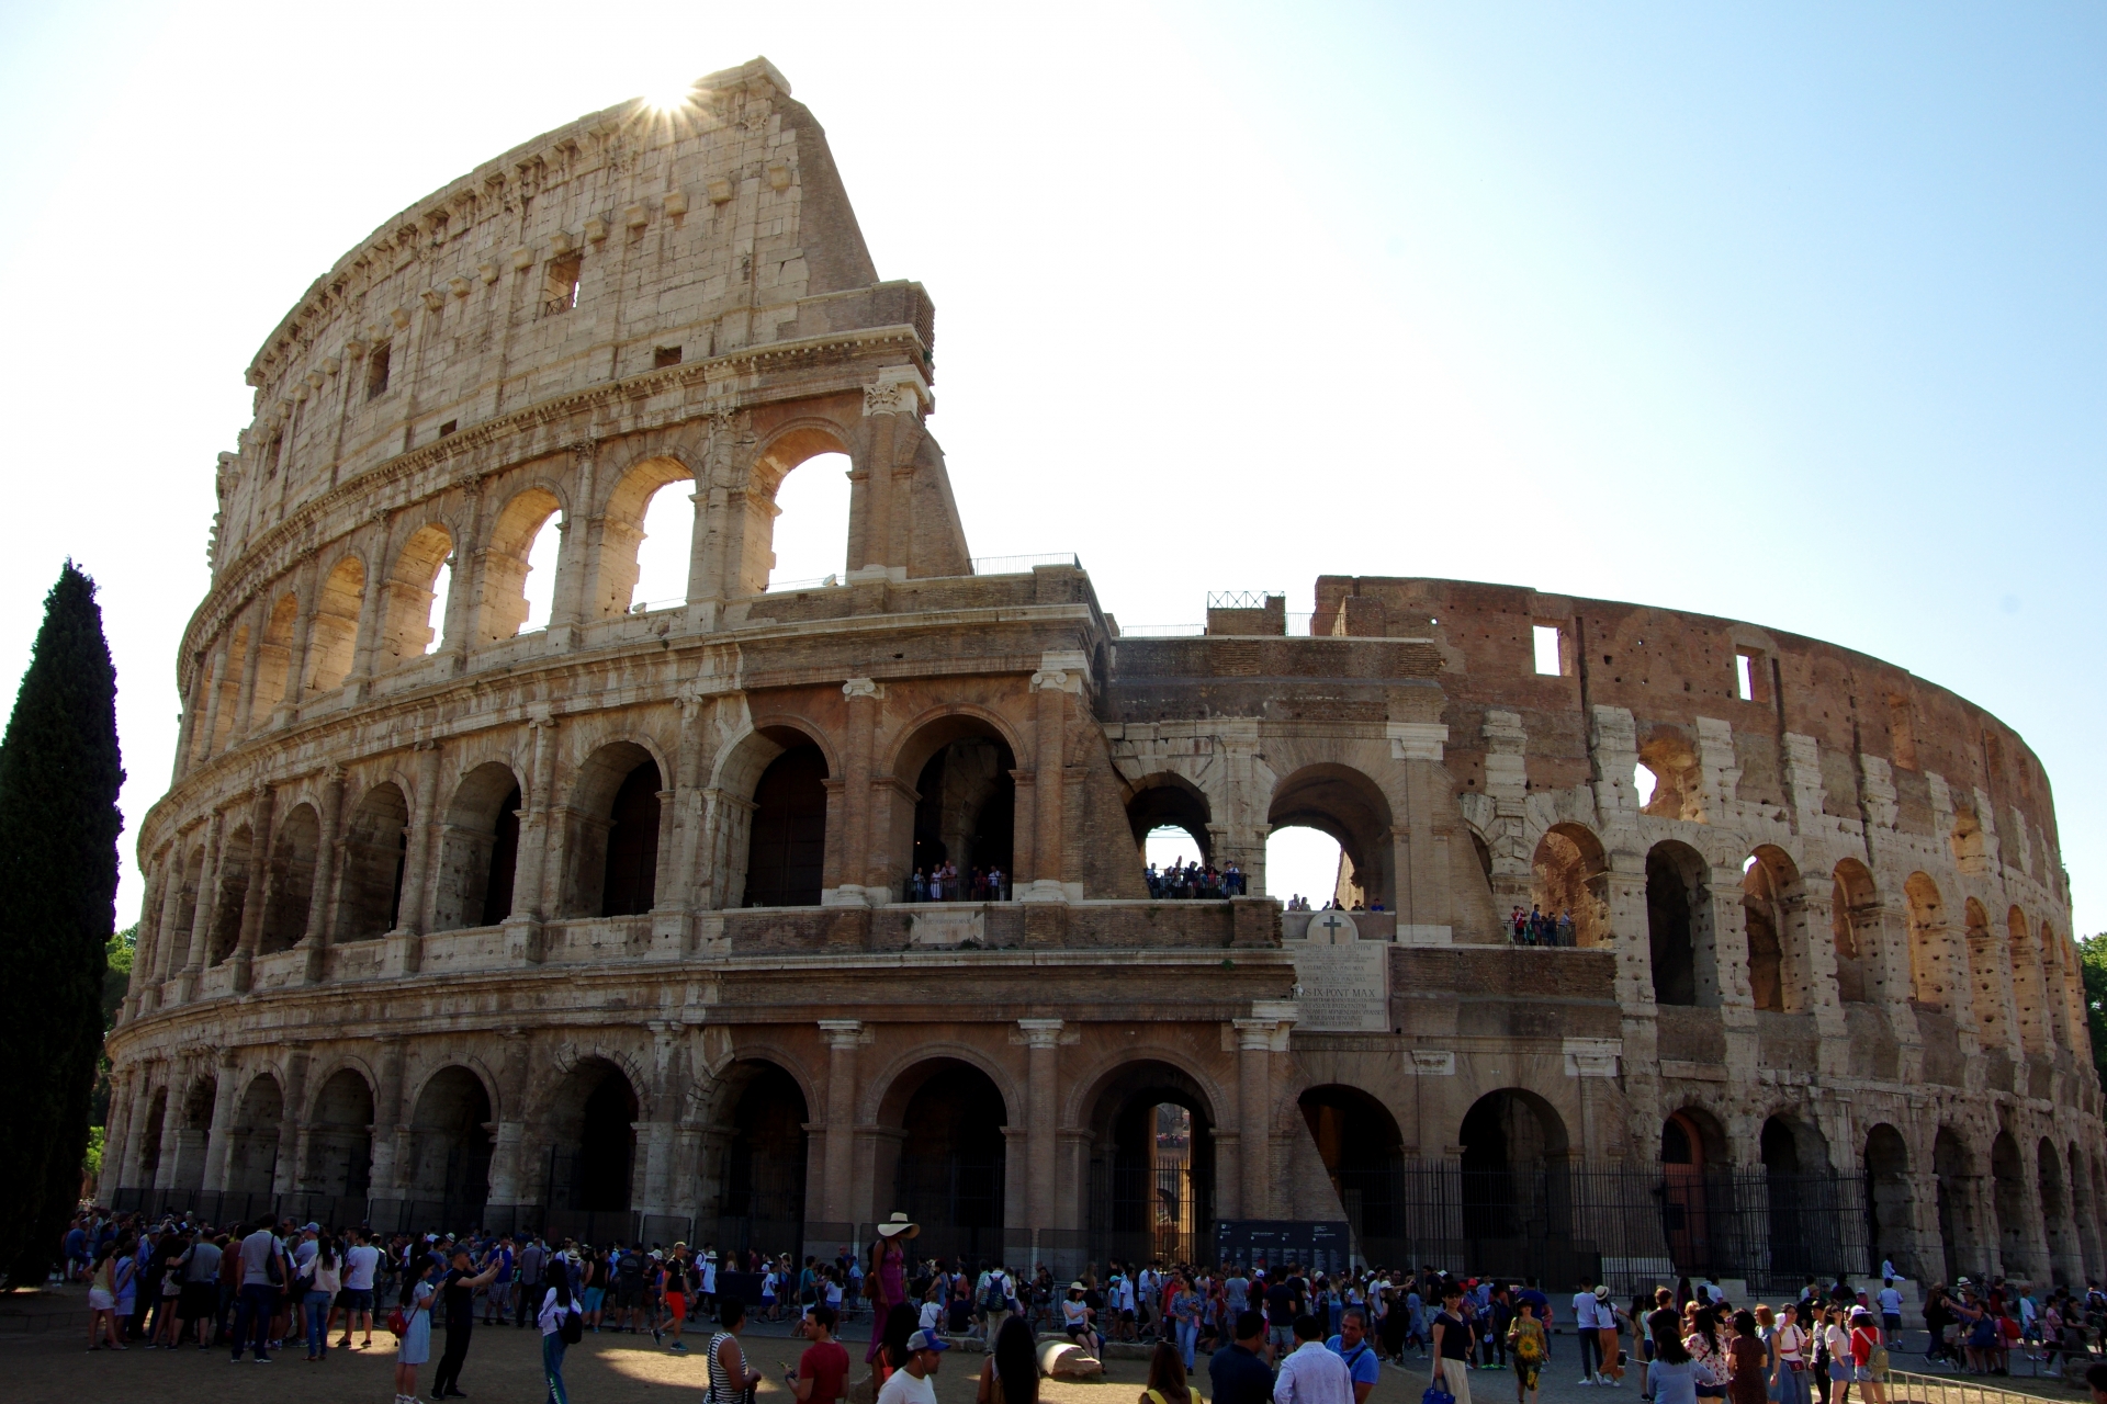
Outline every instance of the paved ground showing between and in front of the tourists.
<svg viewBox="0 0 2107 1404">
<path fill-rule="evenodd" d="M 46 1309 L 48 1328 L 23 1328 L 23 1313 Z M 44 1324 L 44 1322 L 34 1322 Z M 782 1328 L 759 1326 L 748 1332 L 748 1358 L 765 1372 L 761 1400 L 792 1404 L 790 1393 L 775 1383 L 784 1362 L 794 1362 L 803 1347 Z M 868 1326 L 866 1326 L 868 1330 Z M 868 1339 L 868 1337 L 866 1337 Z M 704 1332 L 687 1358 L 657 1349 L 649 1337 L 586 1335 L 565 1362 L 565 1383 L 575 1404 L 632 1404 L 643 1400 L 702 1398 L 708 1377 L 702 1362 Z M 434 1347 L 442 1335 L 434 1332 Z M 853 1349 L 860 1360 L 862 1349 Z M 436 1349 L 434 1349 L 436 1358 Z M 973 1383 L 984 1356 L 950 1351 L 938 1375 L 940 1404 L 973 1404 Z M 1898 1358 L 1901 1368 L 1922 1368 L 1922 1356 Z M 1622 1389 L 1578 1387 L 1578 1356 L 1570 1335 L 1553 1337 L 1551 1368 L 1544 1370 L 1536 1404 L 1637 1404 L 1635 1381 Z M 1205 1383 L 1207 1360 L 1199 1362 L 1199 1387 Z M 1045 1381 L 1045 1404 L 1125 1404 L 1138 1398 L 1146 1368 L 1140 1360 L 1110 1360 L 1108 1377 L 1098 1383 Z M 424 1366 L 419 1383 L 430 1385 L 432 1366 Z M 1991 1381 L 1983 1381 L 1991 1383 Z M 2046 1379 L 1995 1381 L 2014 1391 L 2054 1400 L 2078 1400 L 2082 1391 L 2061 1389 Z M 476 1328 L 461 1387 L 478 1402 L 539 1404 L 541 1341 L 533 1330 L 506 1326 Z M 1426 1366 L 1410 1370 L 1384 1368 L 1370 1404 L 1418 1404 L 1426 1387 Z M 86 1311 L 70 1299 L 46 1297 L 38 1303 L 13 1299 L 0 1303 L 0 1400 L 27 1404 L 76 1404 L 84 1398 L 126 1398 L 156 1404 L 211 1400 L 211 1404 L 383 1404 L 394 1393 L 394 1341 L 375 1332 L 371 1351 L 329 1351 L 322 1364 L 306 1364 L 306 1349 L 280 1351 L 270 1366 L 228 1364 L 223 1349 L 147 1351 L 133 1345 L 124 1353 L 86 1353 Z M 1513 1375 L 1479 1370 L 1471 1377 L 1473 1404 L 1509 1404 L 1515 1398 Z"/>
</svg>

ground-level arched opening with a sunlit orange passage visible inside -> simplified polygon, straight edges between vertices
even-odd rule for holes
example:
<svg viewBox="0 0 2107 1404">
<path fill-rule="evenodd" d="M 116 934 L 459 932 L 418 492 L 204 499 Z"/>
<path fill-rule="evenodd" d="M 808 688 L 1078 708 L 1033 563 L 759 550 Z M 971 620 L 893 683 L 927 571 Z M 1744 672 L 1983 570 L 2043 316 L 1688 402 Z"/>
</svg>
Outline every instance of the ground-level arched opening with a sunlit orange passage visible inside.
<svg viewBox="0 0 2107 1404">
<path fill-rule="evenodd" d="M 1089 1109 L 1091 1242 L 1123 1263 L 1197 1261 L 1214 1242 L 1214 1111 L 1190 1074 L 1129 1063 Z"/>
</svg>

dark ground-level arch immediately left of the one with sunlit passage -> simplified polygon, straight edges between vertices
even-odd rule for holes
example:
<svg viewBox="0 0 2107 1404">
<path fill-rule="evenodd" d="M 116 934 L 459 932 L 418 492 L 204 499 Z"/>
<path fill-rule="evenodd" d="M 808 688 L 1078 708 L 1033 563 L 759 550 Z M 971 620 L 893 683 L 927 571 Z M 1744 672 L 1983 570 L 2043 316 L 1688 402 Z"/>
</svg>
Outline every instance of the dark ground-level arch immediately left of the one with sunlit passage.
<svg viewBox="0 0 2107 1404">
<path fill-rule="evenodd" d="M 914 1090 L 900 1099 L 908 1080 Z M 999 1257 L 1007 1185 L 1003 1126 L 1009 1124 L 1001 1088 L 971 1063 L 933 1059 L 908 1074 L 887 1101 L 900 1101 L 895 1116 L 904 1132 L 893 1202 L 923 1225 L 927 1242 L 919 1252 Z"/>
</svg>

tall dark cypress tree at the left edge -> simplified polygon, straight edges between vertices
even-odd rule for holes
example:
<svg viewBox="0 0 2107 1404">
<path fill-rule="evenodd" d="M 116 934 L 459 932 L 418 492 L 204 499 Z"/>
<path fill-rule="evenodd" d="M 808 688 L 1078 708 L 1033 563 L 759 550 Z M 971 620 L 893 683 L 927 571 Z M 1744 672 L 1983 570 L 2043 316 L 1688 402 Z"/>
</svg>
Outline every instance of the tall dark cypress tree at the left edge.
<svg viewBox="0 0 2107 1404">
<path fill-rule="evenodd" d="M 0 1267 L 40 1284 L 80 1196 L 118 890 L 118 676 L 95 581 L 44 596 L 0 739 Z"/>
</svg>

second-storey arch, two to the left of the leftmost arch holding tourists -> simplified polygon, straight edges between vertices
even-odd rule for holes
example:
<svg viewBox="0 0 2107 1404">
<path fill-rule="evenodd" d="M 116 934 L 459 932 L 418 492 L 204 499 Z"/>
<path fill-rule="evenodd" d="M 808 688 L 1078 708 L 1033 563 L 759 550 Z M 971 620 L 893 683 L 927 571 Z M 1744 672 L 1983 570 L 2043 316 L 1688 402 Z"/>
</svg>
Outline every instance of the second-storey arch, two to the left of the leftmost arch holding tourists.
<svg viewBox="0 0 2107 1404">
<path fill-rule="evenodd" d="M 657 903 L 666 766 L 643 741 L 607 741 L 571 781 L 565 916 L 638 916 Z"/>
</svg>

